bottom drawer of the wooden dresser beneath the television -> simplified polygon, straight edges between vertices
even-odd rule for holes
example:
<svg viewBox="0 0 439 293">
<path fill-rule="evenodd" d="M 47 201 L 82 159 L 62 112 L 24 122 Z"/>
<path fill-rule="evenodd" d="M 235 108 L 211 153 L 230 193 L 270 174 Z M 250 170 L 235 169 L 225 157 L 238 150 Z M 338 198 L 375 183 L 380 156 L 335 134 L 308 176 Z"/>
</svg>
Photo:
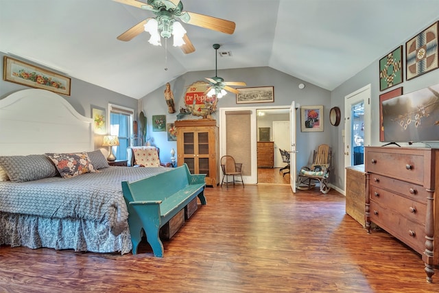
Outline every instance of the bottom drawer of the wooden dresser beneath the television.
<svg viewBox="0 0 439 293">
<path fill-rule="evenodd" d="M 401 217 L 399 213 L 370 201 L 370 220 L 421 255 L 425 250 L 425 226 Z M 412 233 L 412 235 L 410 234 Z"/>
</svg>

